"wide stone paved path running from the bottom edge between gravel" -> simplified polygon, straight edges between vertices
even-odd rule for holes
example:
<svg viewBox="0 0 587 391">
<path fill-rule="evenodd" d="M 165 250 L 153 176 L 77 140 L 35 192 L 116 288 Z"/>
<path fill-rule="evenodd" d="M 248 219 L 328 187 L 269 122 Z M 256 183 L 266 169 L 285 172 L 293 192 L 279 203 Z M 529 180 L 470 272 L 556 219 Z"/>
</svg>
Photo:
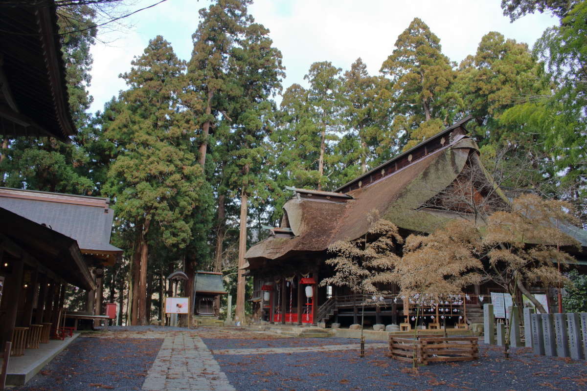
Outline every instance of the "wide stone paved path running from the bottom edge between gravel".
<svg viewBox="0 0 587 391">
<path fill-rule="evenodd" d="M 198 336 L 167 335 L 143 383 L 143 391 L 235 391 Z"/>
</svg>

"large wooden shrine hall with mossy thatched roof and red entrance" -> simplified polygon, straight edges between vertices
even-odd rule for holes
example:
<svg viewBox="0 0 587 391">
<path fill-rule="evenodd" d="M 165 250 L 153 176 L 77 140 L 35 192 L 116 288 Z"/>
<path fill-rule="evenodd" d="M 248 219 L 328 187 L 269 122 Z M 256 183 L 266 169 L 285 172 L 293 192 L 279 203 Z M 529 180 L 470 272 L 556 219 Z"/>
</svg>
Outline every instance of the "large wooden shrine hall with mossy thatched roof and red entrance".
<svg viewBox="0 0 587 391">
<path fill-rule="evenodd" d="M 332 257 L 327 253 L 328 247 L 338 240 L 363 236 L 370 228 L 369 213 L 376 212 L 393 222 L 407 237 L 410 233 L 432 233 L 448 219 L 481 224 L 475 220 L 475 212 L 483 209 L 481 212 L 490 213 L 507 205 L 508 197 L 483 168 L 478 147 L 467 134 L 468 120 L 446 128 L 333 192 L 290 188 L 294 198 L 284 205 L 281 226 L 271 228 L 268 239 L 245 254 L 245 268 L 254 278 L 253 296 L 258 303 L 255 318 L 298 325 L 322 321 L 357 323 L 363 298 L 343 288 L 318 287 L 318 283 L 333 274 L 325 264 Z M 474 200 L 475 206 L 466 199 Z M 571 227 L 568 233 L 582 243 L 584 254 L 585 231 Z M 393 286 L 384 288 L 397 292 Z M 447 308 L 440 310 L 450 311 L 447 318 L 451 324 L 465 324 L 473 312 L 480 314 L 477 297 L 486 291 L 488 287 L 470 287 L 470 296 L 447 303 Z M 366 324 L 399 324 L 409 321 L 411 312 L 409 305 L 404 308 L 402 301 L 389 295 L 384 305 L 365 307 Z"/>
</svg>

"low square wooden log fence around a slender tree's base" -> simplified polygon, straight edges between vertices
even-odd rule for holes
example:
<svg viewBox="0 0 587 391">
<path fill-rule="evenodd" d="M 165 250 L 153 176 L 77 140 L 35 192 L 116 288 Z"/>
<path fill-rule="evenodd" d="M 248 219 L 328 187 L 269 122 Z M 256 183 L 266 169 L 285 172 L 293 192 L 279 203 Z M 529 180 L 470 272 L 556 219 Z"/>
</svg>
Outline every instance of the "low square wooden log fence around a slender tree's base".
<svg viewBox="0 0 587 391">
<path fill-rule="evenodd" d="M 475 336 L 444 337 L 419 335 L 418 339 L 389 336 L 389 356 L 404 362 L 428 365 L 430 362 L 469 361 L 479 358 Z"/>
</svg>

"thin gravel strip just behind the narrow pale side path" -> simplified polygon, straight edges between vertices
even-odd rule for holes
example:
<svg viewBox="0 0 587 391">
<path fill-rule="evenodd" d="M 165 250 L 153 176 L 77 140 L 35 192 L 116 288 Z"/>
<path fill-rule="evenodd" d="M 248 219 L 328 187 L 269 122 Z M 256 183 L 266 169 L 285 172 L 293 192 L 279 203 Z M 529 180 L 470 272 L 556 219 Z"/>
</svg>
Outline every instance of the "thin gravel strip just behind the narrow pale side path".
<svg viewBox="0 0 587 391">
<path fill-rule="evenodd" d="M 247 349 L 247 348 L 301 348 L 305 346 L 350 345 L 359 344 L 352 338 L 280 338 L 280 339 L 245 339 L 245 338 L 205 338 L 202 341 L 208 349 Z"/>
</svg>

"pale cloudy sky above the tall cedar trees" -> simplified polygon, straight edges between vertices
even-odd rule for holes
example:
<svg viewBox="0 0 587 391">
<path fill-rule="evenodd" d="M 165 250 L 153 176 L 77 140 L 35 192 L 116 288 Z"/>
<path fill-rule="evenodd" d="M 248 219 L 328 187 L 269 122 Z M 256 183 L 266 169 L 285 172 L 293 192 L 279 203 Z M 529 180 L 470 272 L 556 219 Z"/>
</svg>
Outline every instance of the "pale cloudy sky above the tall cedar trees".
<svg viewBox="0 0 587 391">
<path fill-rule="evenodd" d="M 130 11 L 158 0 L 136 0 Z M 286 77 L 291 84 L 306 86 L 303 76 L 310 65 L 330 61 L 345 70 L 358 57 L 371 74 L 393 52 L 397 36 L 414 18 L 422 19 L 440 38 L 443 53 L 460 63 L 474 54 L 486 33 L 498 31 L 506 38 L 530 47 L 558 20 L 549 14 L 527 15 L 510 23 L 502 15 L 501 0 L 255 0 L 249 13 L 271 32 L 281 50 Z M 134 56 L 140 56 L 149 39 L 162 35 L 181 59 L 189 60 L 191 35 L 198 26 L 198 10 L 208 0 L 167 0 L 127 18 L 126 27 L 99 33 L 102 42 L 92 48 L 94 102 L 90 111 L 102 110 L 112 96 L 126 89 L 119 74 L 127 72 Z M 278 99 L 279 101 L 279 99 Z"/>
</svg>

